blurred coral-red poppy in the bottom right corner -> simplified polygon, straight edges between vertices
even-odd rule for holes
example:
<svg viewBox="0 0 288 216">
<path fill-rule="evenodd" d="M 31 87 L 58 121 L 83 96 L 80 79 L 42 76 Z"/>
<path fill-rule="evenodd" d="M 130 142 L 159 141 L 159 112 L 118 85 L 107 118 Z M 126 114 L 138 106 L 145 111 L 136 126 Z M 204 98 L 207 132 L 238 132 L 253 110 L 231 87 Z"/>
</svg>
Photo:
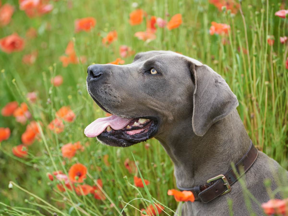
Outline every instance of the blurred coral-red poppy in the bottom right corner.
<svg viewBox="0 0 288 216">
<path fill-rule="evenodd" d="M 285 200 L 269 200 L 263 203 L 262 208 L 267 215 L 286 215 L 288 213 L 288 199 Z"/>
</svg>

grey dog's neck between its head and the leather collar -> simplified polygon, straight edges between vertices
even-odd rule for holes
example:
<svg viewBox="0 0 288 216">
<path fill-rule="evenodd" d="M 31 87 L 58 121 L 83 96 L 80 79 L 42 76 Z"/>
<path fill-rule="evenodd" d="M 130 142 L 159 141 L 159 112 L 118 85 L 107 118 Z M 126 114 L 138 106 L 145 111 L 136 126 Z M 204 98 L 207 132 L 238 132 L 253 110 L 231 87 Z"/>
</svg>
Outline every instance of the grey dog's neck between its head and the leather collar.
<svg viewBox="0 0 288 216">
<path fill-rule="evenodd" d="M 250 145 L 236 109 L 202 137 L 194 134 L 191 117 L 179 124 L 156 137 L 174 162 L 179 187 L 203 185 L 208 179 L 225 174 L 231 162 L 240 160 Z"/>
</svg>

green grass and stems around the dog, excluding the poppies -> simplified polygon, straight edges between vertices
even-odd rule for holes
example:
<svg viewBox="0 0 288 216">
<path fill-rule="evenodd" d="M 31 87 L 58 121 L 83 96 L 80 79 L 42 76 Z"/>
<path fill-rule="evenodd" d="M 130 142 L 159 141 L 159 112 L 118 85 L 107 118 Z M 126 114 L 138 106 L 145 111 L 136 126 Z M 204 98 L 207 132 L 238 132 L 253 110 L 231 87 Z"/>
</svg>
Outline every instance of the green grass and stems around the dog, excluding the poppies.
<svg viewBox="0 0 288 216">
<path fill-rule="evenodd" d="M 73 1 L 71 9 L 68 5 L 72 1 L 53 1 L 54 10 L 50 14 L 31 19 L 19 10 L 18 1 L 7 2 L 14 5 L 16 10 L 11 23 L 0 28 L 0 38 L 13 32 L 25 37 L 30 27 L 37 29 L 38 37 L 27 39 L 21 52 L 0 52 L 0 69 L 4 69 L 0 74 L 0 108 L 10 101 L 22 103 L 26 101 L 27 92 L 37 91 L 38 101 L 29 105 L 29 109 L 33 119 L 43 123 L 43 136 L 41 141 L 29 147 L 28 158 L 16 158 L 11 149 L 21 144 L 21 134 L 26 125 L 15 122 L 13 117 L 0 116 L 0 127 L 11 129 L 10 139 L 0 144 L 0 213 L 3 215 L 21 215 L 18 211 L 39 215 L 34 210 L 43 215 L 52 215 L 53 212 L 58 215 L 84 215 L 83 211 L 90 215 L 119 215 L 125 203 L 134 199 L 129 204 L 141 209 L 153 198 L 176 209 L 175 200 L 167 195 L 168 189 L 176 188 L 173 164 L 156 139 L 145 142 L 150 144 L 148 149 L 145 143 L 115 148 L 103 146 L 95 139 L 84 136 L 84 128 L 105 115 L 86 91 L 87 66 L 93 62 L 105 64 L 115 60 L 119 57 L 120 45 L 128 45 L 135 52 L 181 52 L 212 67 L 237 95 L 238 112 L 253 143 L 283 167 L 288 167 L 288 71 L 285 69 L 288 47 L 279 42 L 280 36 L 288 35 L 287 19 L 274 16 L 280 10 L 278 3 L 281 1 L 252 1 L 251 6 L 249 1 L 242 1 L 243 17 L 240 12 L 236 16 L 219 12 L 208 1 L 139 1 L 139 7 L 149 15 L 166 18 L 167 13 L 170 17 L 181 13 L 183 16 L 183 24 L 179 28 L 172 31 L 158 29 L 157 38 L 150 43 L 134 37 L 135 32 L 145 31 L 146 24 L 145 20 L 141 25 L 129 24 L 129 13 L 134 10 L 133 1 Z M 288 9 L 287 3 L 284 7 Z M 88 16 L 96 18 L 95 28 L 91 32 L 75 33 L 74 20 Z M 221 43 L 220 35 L 209 35 L 212 21 L 230 24 L 231 32 L 226 37 L 226 45 Z M 51 29 L 46 28 L 48 25 Z M 117 30 L 118 40 L 104 47 L 102 37 L 112 30 Z M 268 35 L 275 36 L 272 47 L 267 44 Z M 77 55 L 85 55 L 88 61 L 83 65 L 63 68 L 58 59 L 72 39 Z M 244 54 L 241 48 L 249 52 Z M 35 64 L 24 65 L 23 54 L 35 49 L 39 52 Z M 132 59 L 133 56 L 125 58 L 125 63 L 132 62 Z M 62 86 L 51 86 L 50 79 L 54 75 L 63 76 Z M 69 105 L 77 117 L 73 123 L 65 124 L 64 132 L 55 135 L 47 125 L 64 105 Z M 89 145 L 71 160 L 64 159 L 60 147 L 77 141 L 81 141 L 82 145 L 88 142 Z M 132 153 L 143 178 L 151 182 L 145 189 L 132 187 L 133 175 L 124 167 L 126 158 L 133 161 Z M 110 166 L 103 161 L 106 154 L 109 155 Z M 93 185 L 96 179 L 102 179 L 103 190 L 115 207 L 110 207 L 109 199 L 95 200 L 91 194 L 84 197 L 73 192 L 58 193 L 56 182 L 50 182 L 46 173 L 56 169 L 67 172 L 75 162 L 88 168 L 89 176 L 85 183 Z M 14 182 L 10 190 L 9 181 Z M 132 206 L 127 205 L 124 212 L 127 215 L 140 215 Z M 168 209 L 165 211 L 173 215 Z"/>
</svg>

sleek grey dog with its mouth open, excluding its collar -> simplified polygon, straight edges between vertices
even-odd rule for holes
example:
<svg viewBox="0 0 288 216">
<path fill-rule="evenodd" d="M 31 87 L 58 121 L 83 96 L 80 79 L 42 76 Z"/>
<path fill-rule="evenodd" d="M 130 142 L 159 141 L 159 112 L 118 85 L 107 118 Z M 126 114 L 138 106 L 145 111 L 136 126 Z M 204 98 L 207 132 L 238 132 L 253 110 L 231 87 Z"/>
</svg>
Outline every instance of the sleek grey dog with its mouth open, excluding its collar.
<svg viewBox="0 0 288 216">
<path fill-rule="evenodd" d="M 249 148 L 236 96 L 219 74 L 198 60 L 171 51 L 149 51 L 137 54 L 131 64 L 90 65 L 87 72 L 88 92 L 103 110 L 115 118 L 132 119 L 136 122 L 132 128 L 143 119 L 147 122 L 131 132 L 131 125 L 99 129 L 102 119 L 94 124 L 100 131 L 94 135 L 118 147 L 155 137 L 175 165 L 178 187 L 202 185 L 225 173 Z M 241 179 L 245 187 L 237 181 L 230 193 L 211 202 L 185 202 L 182 215 L 264 215 L 260 204 L 273 198 L 265 180 L 270 180 L 272 191 L 287 186 L 287 171 L 259 152 Z M 281 190 L 274 195 L 281 198 Z"/>
</svg>

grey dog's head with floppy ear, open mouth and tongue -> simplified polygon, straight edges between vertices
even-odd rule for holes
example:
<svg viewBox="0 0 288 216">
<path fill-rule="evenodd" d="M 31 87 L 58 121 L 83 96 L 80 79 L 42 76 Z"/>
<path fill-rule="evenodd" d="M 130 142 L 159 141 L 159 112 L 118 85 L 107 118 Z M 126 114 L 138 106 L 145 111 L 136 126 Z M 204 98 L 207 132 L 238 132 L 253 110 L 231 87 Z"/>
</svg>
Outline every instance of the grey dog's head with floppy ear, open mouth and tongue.
<svg viewBox="0 0 288 216">
<path fill-rule="evenodd" d="M 225 80 L 199 61 L 170 51 L 142 52 L 128 65 L 90 65 L 87 89 L 113 114 L 85 129 L 107 145 L 127 147 L 192 118 L 203 136 L 212 124 L 238 106 Z"/>
</svg>

